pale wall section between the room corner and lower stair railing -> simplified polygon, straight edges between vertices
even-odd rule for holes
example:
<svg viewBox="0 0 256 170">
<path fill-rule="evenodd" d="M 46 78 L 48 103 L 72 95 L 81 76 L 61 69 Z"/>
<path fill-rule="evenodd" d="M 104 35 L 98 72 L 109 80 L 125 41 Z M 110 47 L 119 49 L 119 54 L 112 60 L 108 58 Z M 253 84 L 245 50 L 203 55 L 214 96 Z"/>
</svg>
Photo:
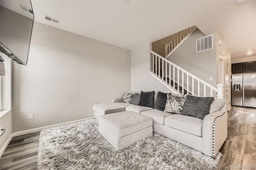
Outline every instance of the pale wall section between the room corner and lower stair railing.
<svg viewBox="0 0 256 170">
<path fill-rule="evenodd" d="M 131 90 L 158 90 L 170 93 L 171 91 L 166 86 L 148 72 L 150 69 L 150 46 L 150 43 L 146 43 L 131 50 Z"/>
</svg>

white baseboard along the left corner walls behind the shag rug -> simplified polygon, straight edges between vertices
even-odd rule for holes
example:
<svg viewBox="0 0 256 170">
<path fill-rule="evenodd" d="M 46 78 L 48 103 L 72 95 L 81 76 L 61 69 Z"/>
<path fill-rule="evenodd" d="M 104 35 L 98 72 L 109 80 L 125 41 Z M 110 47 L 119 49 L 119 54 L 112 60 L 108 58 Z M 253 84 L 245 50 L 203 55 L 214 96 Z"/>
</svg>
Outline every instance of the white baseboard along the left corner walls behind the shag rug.
<svg viewBox="0 0 256 170">
<path fill-rule="evenodd" d="M 0 158 L 1 158 L 2 154 L 4 153 L 4 150 L 6 149 L 6 147 L 8 146 L 10 141 L 12 140 L 12 137 L 14 137 L 14 136 L 20 136 L 20 135 L 24 135 L 24 134 L 39 132 L 39 131 L 42 131 L 42 130 L 44 130 L 46 128 L 58 127 L 58 126 L 61 126 L 61 125 L 66 125 L 66 124 L 70 124 L 70 123 L 77 123 L 77 122 L 87 121 L 87 120 L 90 120 L 90 119 L 93 119 L 93 117 L 89 117 L 89 118 L 86 118 L 86 119 L 80 119 L 80 120 L 76 120 L 76 121 L 65 122 L 65 123 L 59 123 L 59 124 L 45 126 L 45 127 L 32 128 L 32 129 L 29 129 L 29 130 L 22 130 L 20 132 L 14 132 L 14 133 L 11 134 L 11 136 L 5 142 L 4 146 L 1 148 L 1 150 L 0 150 Z"/>
</svg>

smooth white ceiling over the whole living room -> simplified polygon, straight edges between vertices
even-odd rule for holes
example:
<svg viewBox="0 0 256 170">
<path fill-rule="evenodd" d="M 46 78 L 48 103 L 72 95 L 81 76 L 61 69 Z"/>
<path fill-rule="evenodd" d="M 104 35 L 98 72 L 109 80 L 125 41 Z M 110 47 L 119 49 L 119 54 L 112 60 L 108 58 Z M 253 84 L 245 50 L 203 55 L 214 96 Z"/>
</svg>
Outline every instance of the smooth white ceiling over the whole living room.
<svg viewBox="0 0 256 170">
<path fill-rule="evenodd" d="M 256 55 L 256 1 L 31 0 L 34 20 L 126 49 L 196 25 L 218 33 L 232 59 Z M 44 19 L 44 14 L 60 20 Z M 155 18 L 153 18 L 155 16 Z M 247 55 L 252 51 L 251 55 Z"/>
</svg>

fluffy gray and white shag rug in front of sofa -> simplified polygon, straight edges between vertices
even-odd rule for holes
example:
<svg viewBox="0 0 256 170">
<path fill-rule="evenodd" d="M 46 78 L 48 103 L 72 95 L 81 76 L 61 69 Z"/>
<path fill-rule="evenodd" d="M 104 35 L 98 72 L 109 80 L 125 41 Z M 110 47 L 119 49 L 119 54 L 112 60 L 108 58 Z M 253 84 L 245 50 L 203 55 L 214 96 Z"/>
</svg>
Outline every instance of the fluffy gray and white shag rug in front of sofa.
<svg viewBox="0 0 256 170">
<path fill-rule="evenodd" d="M 42 130 L 39 139 L 39 170 L 213 170 L 216 158 L 154 133 L 116 151 L 98 132 L 91 119 Z"/>
</svg>

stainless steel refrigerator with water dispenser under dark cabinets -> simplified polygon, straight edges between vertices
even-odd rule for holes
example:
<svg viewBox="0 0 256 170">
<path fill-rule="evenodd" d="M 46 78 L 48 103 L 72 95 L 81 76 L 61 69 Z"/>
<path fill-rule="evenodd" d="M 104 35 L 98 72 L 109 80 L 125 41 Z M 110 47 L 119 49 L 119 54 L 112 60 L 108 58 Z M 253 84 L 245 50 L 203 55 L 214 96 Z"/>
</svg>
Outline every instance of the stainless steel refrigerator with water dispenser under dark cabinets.
<svg viewBox="0 0 256 170">
<path fill-rule="evenodd" d="M 232 74 L 232 105 L 256 107 L 256 73 Z"/>
</svg>

